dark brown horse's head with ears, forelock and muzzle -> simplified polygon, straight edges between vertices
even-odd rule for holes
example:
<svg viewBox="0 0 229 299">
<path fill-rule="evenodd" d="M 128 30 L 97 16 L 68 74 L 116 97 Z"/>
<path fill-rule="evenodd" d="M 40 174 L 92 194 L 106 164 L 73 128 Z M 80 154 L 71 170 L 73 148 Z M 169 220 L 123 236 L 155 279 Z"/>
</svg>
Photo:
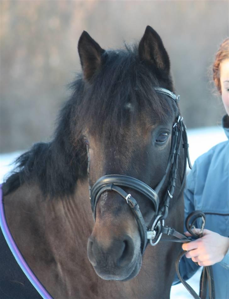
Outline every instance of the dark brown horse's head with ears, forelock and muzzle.
<svg viewBox="0 0 229 299">
<path fill-rule="evenodd" d="M 114 178 L 131 177 L 155 189 L 168 168 L 172 129 L 179 114 L 176 101 L 156 89 L 174 92 L 170 60 L 161 38 L 147 26 L 138 45 L 105 51 L 84 31 L 78 51 L 83 71 L 78 122 L 87 148 L 88 185 L 116 175 Z M 180 159 L 174 198 L 182 185 Z M 150 227 L 167 194 L 169 179 L 166 176 L 160 186 L 158 206 L 128 184 L 121 184 L 125 196 L 112 189 L 112 181 L 99 193 L 100 185 L 96 205 L 92 204 L 95 224 L 87 254 L 101 278 L 129 280 L 138 274 L 145 246 L 128 199 L 137 200 L 139 215 Z"/>
</svg>

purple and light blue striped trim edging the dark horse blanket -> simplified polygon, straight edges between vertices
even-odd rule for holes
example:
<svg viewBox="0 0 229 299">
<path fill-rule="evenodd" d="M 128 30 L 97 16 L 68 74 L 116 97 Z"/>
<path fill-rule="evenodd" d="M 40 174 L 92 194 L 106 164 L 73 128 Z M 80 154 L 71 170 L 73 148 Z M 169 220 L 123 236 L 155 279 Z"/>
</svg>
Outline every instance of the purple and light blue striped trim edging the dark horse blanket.
<svg viewBox="0 0 229 299">
<path fill-rule="evenodd" d="M 35 289 L 38 291 L 38 293 L 44 298 L 44 299 L 52 299 L 52 296 L 45 290 L 45 288 L 42 286 L 40 281 L 36 278 L 28 264 L 25 262 L 25 259 L 21 255 L 19 249 L 17 248 L 17 245 L 14 242 L 14 239 L 9 231 L 6 218 L 5 218 L 5 212 L 4 212 L 4 206 L 3 206 L 3 192 L 2 192 L 2 185 L 0 185 L 0 226 L 3 232 L 3 235 L 6 239 L 6 242 L 14 255 L 14 258 L 16 259 L 17 263 L 21 267 L 21 270 L 25 273 L 27 278 L 30 280 L 31 284 L 35 287 Z"/>
</svg>

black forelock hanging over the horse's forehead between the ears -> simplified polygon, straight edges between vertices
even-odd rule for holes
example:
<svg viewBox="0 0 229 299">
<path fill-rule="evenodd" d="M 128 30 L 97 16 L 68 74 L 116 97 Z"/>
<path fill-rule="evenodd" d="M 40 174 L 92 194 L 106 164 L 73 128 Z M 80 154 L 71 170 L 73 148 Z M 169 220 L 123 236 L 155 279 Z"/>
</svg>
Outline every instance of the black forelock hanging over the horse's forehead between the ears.
<svg viewBox="0 0 229 299">
<path fill-rule="evenodd" d="M 72 84 L 77 137 L 87 129 L 115 141 L 125 128 L 135 127 L 139 118 L 154 125 L 174 114 L 174 103 L 154 90 L 160 86 L 173 91 L 170 76 L 141 61 L 136 46 L 106 51 L 102 58 L 101 68 L 90 82 L 81 78 Z M 81 84 L 83 92 L 78 99 L 76 91 Z"/>
</svg>

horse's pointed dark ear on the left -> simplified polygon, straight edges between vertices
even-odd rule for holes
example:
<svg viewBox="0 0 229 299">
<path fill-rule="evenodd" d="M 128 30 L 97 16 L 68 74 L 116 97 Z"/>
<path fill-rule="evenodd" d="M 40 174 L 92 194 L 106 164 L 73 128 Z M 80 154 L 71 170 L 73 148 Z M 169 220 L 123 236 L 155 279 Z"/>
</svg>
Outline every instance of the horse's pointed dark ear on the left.
<svg viewBox="0 0 229 299">
<path fill-rule="evenodd" d="M 104 53 L 100 45 L 83 31 L 78 42 L 80 62 L 86 80 L 90 80 L 101 65 L 101 55 Z"/>
</svg>

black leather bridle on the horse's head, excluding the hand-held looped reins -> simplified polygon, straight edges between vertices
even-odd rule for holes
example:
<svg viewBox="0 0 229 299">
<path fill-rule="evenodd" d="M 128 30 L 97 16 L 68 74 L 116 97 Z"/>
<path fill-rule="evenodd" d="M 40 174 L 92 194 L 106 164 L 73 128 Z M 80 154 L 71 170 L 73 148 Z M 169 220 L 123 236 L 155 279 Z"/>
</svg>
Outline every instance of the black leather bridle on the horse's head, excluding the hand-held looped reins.
<svg viewBox="0 0 229 299">
<path fill-rule="evenodd" d="M 160 87 L 154 87 L 154 89 L 157 93 L 161 93 L 170 97 L 170 99 L 174 100 L 176 104 L 180 99 L 179 95 L 176 96 L 168 89 L 160 88 Z M 179 232 L 176 232 L 173 228 L 164 227 L 165 218 L 168 216 L 170 200 L 172 199 L 176 188 L 178 157 L 180 155 L 180 148 L 181 148 L 182 141 L 183 141 L 183 148 L 184 148 L 184 155 L 185 155 L 184 171 L 182 176 L 182 186 L 180 189 L 182 191 L 184 180 L 185 180 L 187 161 L 190 168 L 191 168 L 191 163 L 190 163 L 189 153 L 188 153 L 186 126 L 184 125 L 183 118 L 180 115 L 176 116 L 176 121 L 173 124 L 173 128 L 172 128 L 172 140 L 171 140 L 171 149 L 170 149 L 168 165 L 165 170 L 164 177 L 156 186 L 155 190 L 136 178 L 127 175 L 120 175 L 120 174 L 104 175 L 103 177 L 98 179 L 98 181 L 93 185 L 92 189 L 90 188 L 89 185 L 91 206 L 94 215 L 94 220 L 96 218 L 96 206 L 103 192 L 115 191 L 126 200 L 126 203 L 130 206 L 138 224 L 138 228 L 141 236 L 142 254 L 145 251 L 145 248 L 148 244 L 148 240 L 152 246 L 155 246 L 159 242 L 163 233 L 181 239 L 179 240 L 180 242 L 182 242 L 182 240 L 183 242 L 187 242 L 188 240 L 186 236 L 184 236 Z M 88 147 L 87 147 L 87 154 L 88 154 L 88 173 L 89 173 L 90 156 L 89 156 Z M 169 175 L 169 183 L 166 188 L 167 192 L 163 200 L 161 201 L 161 207 L 159 207 L 158 194 L 161 188 L 163 187 L 165 179 L 168 177 L 168 175 Z M 127 187 L 127 188 L 137 190 L 138 192 L 146 196 L 153 203 L 155 215 L 154 215 L 154 220 L 152 221 L 153 223 L 151 229 L 148 229 L 148 227 L 146 226 L 137 201 L 131 196 L 131 194 L 127 194 L 121 187 Z"/>
</svg>

